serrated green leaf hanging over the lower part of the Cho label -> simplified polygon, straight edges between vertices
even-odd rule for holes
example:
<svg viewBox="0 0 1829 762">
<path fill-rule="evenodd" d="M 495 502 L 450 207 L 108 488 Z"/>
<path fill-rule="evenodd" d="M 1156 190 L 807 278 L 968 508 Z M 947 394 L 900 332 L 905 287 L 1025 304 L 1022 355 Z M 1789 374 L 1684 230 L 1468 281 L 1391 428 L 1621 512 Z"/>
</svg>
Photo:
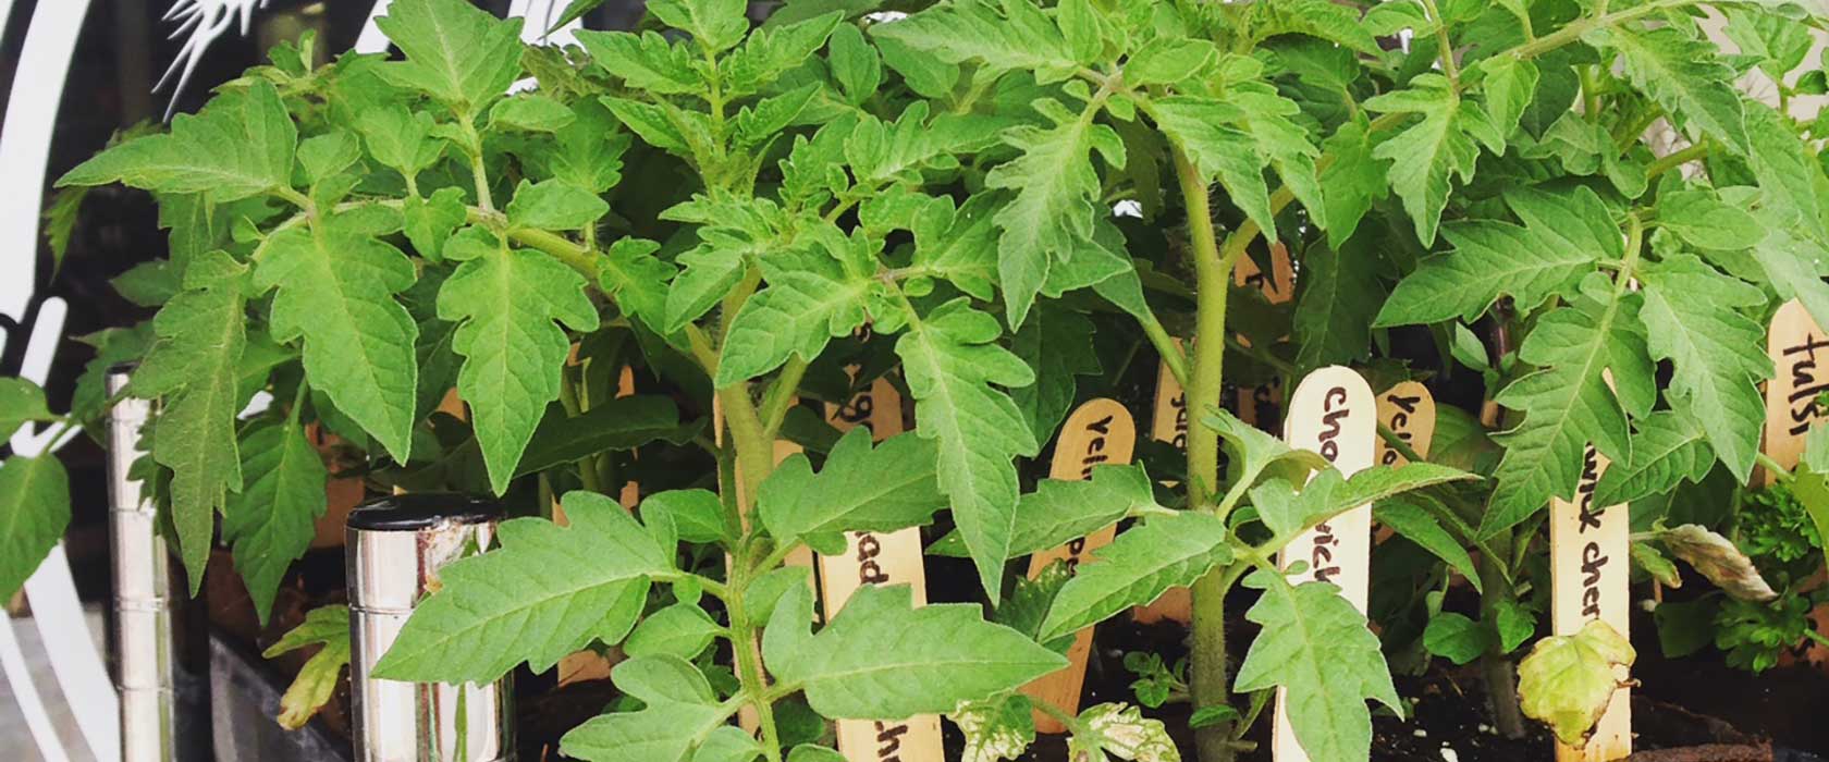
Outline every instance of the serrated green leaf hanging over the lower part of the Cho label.
<svg viewBox="0 0 1829 762">
<path fill-rule="evenodd" d="M 1264 625 L 1233 685 L 1238 693 L 1286 689 L 1289 725 L 1317 760 L 1366 760 L 1372 711 L 1366 700 L 1403 713 L 1390 669 L 1366 618 L 1330 583 L 1291 587 L 1266 570 L 1246 577 L 1264 596 L 1246 619 Z"/>
</svg>

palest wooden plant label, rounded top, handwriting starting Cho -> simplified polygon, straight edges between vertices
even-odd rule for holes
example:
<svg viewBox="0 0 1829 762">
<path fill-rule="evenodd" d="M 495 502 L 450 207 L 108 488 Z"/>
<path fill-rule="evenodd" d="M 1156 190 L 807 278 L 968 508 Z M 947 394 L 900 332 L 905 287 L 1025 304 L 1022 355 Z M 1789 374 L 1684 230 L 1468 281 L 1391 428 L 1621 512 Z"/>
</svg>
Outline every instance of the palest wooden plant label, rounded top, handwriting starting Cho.
<svg viewBox="0 0 1829 762">
<path fill-rule="evenodd" d="M 1291 448 L 1321 453 L 1348 477 L 1372 468 L 1377 453 L 1377 402 L 1372 387 L 1350 367 L 1332 365 L 1310 373 L 1297 384 L 1295 395 L 1289 395 L 1289 417 L 1284 418 L 1282 439 Z M 1372 579 L 1372 506 L 1353 508 L 1297 535 L 1282 548 L 1278 566 L 1289 568 L 1297 561 L 1308 568 L 1291 574 L 1291 585 L 1315 579 L 1339 585 L 1341 594 L 1355 609 L 1366 610 Z M 1277 689 L 1275 733 L 1271 749 L 1277 762 L 1308 762 L 1308 753 L 1295 742 L 1282 689 Z"/>
</svg>

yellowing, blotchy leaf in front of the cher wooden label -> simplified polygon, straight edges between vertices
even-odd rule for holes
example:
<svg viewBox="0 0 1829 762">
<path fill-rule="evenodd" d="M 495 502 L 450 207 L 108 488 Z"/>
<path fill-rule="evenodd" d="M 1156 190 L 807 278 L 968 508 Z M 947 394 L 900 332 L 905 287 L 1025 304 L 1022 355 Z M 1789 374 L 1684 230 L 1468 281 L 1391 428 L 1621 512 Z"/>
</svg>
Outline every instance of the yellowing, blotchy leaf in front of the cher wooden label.
<svg viewBox="0 0 1829 762">
<path fill-rule="evenodd" d="M 1567 746 L 1586 746 L 1620 680 L 1615 665 L 1630 667 L 1637 654 L 1626 636 L 1591 619 L 1580 632 L 1536 641 L 1518 661 L 1518 700 L 1524 714 L 1544 722 Z"/>
</svg>

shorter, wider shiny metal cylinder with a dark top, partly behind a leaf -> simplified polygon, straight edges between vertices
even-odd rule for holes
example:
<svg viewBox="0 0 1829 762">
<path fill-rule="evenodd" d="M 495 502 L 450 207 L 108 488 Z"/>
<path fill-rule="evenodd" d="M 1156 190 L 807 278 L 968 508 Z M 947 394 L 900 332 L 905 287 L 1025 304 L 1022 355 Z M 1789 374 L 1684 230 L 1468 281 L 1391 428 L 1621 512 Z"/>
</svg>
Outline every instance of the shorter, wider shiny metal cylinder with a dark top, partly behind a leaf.
<svg viewBox="0 0 1829 762">
<path fill-rule="evenodd" d="M 501 510 L 465 495 L 417 493 L 349 513 L 349 669 L 358 762 L 514 760 L 510 680 L 402 683 L 369 674 L 439 568 L 487 548 Z"/>
</svg>

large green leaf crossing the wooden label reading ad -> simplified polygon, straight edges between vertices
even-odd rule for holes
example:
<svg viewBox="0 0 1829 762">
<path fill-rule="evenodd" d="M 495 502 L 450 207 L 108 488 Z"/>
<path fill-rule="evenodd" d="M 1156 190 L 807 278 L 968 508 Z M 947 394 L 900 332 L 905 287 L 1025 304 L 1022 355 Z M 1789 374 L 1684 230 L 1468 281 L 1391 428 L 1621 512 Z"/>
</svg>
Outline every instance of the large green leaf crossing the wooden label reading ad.
<svg viewBox="0 0 1829 762">
<path fill-rule="evenodd" d="M 829 718 L 896 720 L 938 714 L 1011 691 L 1066 660 L 1021 632 L 984 621 L 977 605 L 916 609 L 907 585 L 863 587 L 814 636 L 812 594 L 788 590 L 763 640 L 763 660 Z M 777 629 L 792 630 L 783 640 Z M 768 638 L 775 636 L 775 638 Z"/>
</svg>

